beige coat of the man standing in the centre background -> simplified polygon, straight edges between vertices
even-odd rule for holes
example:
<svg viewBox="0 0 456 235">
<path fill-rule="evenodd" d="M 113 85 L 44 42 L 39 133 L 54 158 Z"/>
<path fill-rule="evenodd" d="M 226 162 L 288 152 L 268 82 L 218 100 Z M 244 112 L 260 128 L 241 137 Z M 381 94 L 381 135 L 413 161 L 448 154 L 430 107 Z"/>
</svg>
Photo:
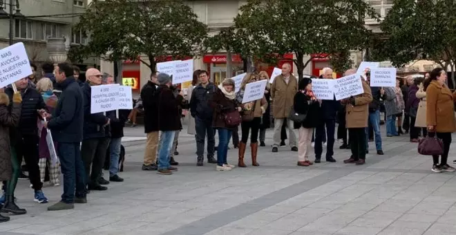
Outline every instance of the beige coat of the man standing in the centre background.
<svg viewBox="0 0 456 235">
<path fill-rule="evenodd" d="M 298 92 L 298 81 L 293 75 L 289 75 L 288 84 L 285 82 L 283 75 L 278 75 L 274 79 L 271 86 L 274 118 L 288 118 L 296 92 Z"/>
</svg>

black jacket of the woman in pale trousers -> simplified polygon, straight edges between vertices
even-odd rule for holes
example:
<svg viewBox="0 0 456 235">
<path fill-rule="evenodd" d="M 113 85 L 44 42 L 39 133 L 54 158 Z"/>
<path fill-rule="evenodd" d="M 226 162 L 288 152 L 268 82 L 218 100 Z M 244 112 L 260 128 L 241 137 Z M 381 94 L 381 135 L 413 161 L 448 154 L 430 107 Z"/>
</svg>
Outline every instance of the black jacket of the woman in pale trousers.
<svg viewBox="0 0 456 235">
<path fill-rule="evenodd" d="M 305 120 L 298 126 L 295 125 L 295 127 L 315 128 L 321 123 L 321 114 L 323 112 L 318 101 L 312 101 L 307 95 L 298 92 L 294 95 L 293 107 L 296 113 L 307 114 Z"/>
</svg>

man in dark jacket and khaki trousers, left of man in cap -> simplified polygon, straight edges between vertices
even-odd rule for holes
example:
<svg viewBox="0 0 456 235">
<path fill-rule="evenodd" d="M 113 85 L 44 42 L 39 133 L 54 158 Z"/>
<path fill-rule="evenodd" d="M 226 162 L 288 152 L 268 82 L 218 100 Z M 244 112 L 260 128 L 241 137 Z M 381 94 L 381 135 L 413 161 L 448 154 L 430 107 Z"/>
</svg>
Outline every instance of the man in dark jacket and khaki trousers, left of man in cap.
<svg viewBox="0 0 456 235">
<path fill-rule="evenodd" d="M 141 89 L 141 100 L 144 108 L 144 132 L 147 135 L 146 149 L 144 151 L 143 171 L 157 170 L 158 148 L 158 101 L 155 100 L 157 91 L 157 73 L 151 74 L 151 79 Z"/>
</svg>

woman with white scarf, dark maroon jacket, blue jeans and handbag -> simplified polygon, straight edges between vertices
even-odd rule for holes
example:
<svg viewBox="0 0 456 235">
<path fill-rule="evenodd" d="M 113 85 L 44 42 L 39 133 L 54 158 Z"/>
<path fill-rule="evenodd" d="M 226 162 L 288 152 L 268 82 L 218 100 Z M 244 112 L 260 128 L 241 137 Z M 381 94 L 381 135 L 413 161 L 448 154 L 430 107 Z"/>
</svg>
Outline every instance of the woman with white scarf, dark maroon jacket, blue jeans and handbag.
<svg viewBox="0 0 456 235">
<path fill-rule="evenodd" d="M 228 143 L 231 138 L 231 132 L 236 129 L 236 126 L 228 126 L 225 122 L 225 115 L 233 111 L 240 111 L 238 102 L 236 101 L 236 93 L 233 79 L 225 79 L 218 86 L 213 98 L 209 101 L 213 107 L 213 128 L 218 131 L 218 151 L 217 151 L 217 171 L 231 171 L 234 165 L 228 164 L 227 153 Z M 242 142 L 240 142 L 242 144 Z M 241 145 L 239 149 L 241 149 Z M 244 148 L 245 149 L 245 148 Z"/>
</svg>

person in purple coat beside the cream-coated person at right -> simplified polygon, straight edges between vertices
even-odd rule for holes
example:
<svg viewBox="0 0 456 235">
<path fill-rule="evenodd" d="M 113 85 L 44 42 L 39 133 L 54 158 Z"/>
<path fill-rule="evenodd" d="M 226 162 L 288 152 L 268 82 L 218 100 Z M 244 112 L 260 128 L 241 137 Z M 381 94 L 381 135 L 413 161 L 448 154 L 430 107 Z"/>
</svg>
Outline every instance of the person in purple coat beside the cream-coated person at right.
<svg viewBox="0 0 456 235">
<path fill-rule="evenodd" d="M 422 79 L 415 79 L 415 82 L 408 89 L 408 98 L 406 103 L 406 111 L 410 116 L 410 142 L 419 142 L 419 129 L 415 127 L 417 120 L 419 99 L 417 98 L 418 85 L 423 82 Z"/>
</svg>

